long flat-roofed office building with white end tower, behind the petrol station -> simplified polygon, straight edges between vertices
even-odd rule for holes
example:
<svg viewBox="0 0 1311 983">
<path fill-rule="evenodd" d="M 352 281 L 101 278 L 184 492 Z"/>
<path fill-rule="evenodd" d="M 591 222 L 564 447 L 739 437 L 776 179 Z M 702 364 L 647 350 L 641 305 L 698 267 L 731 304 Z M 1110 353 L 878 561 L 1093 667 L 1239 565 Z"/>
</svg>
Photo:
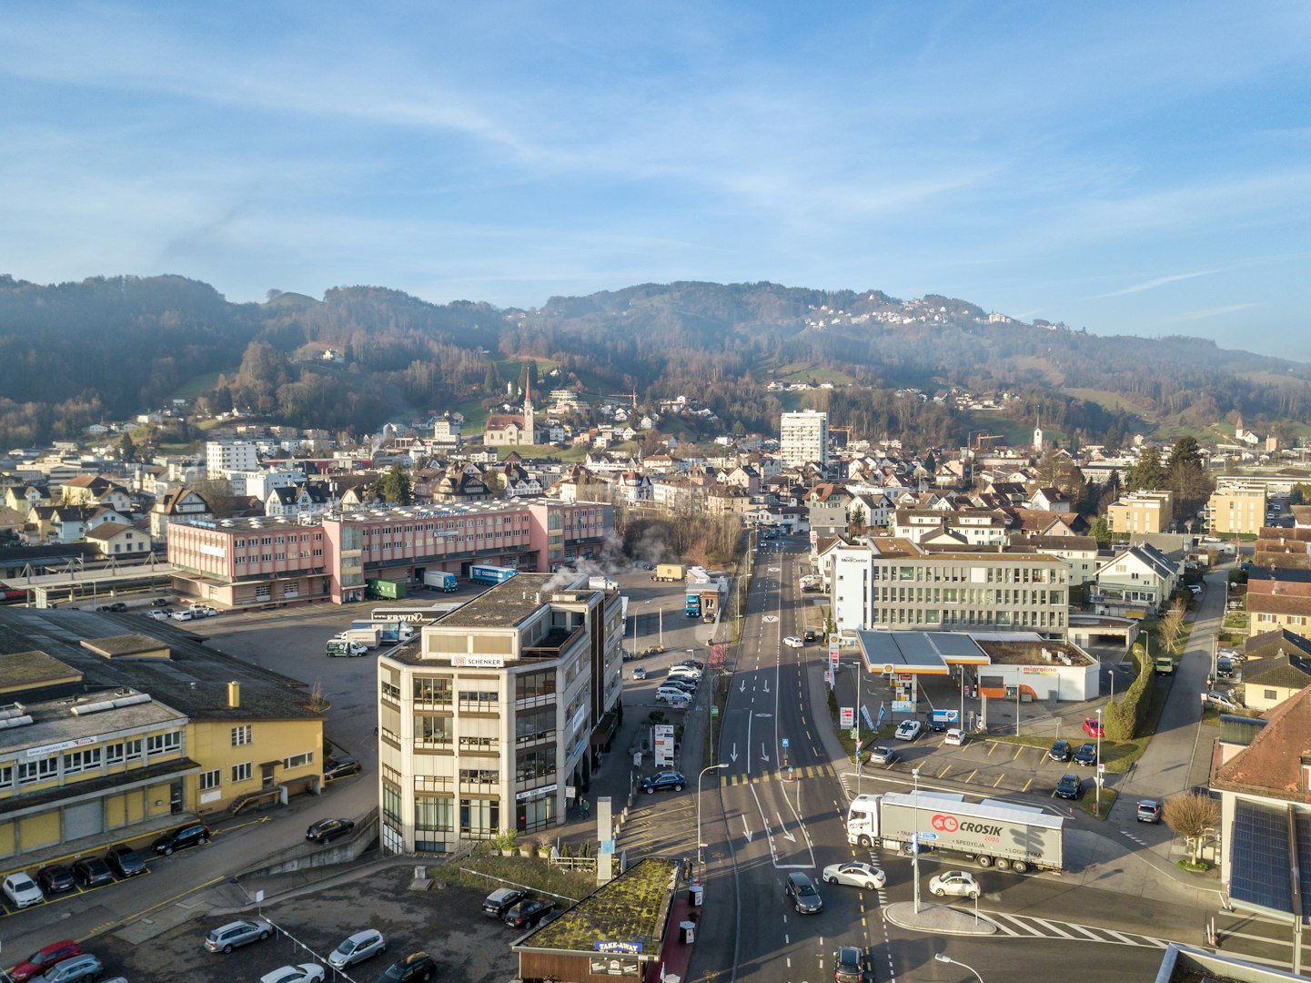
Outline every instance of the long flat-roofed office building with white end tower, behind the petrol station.
<svg viewBox="0 0 1311 983">
<path fill-rule="evenodd" d="M 839 630 L 1028 629 L 1065 638 L 1070 570 L 1059 556 L 995 550 L 926 553 L 906 539 L 830 554 Z"/>
</svg>

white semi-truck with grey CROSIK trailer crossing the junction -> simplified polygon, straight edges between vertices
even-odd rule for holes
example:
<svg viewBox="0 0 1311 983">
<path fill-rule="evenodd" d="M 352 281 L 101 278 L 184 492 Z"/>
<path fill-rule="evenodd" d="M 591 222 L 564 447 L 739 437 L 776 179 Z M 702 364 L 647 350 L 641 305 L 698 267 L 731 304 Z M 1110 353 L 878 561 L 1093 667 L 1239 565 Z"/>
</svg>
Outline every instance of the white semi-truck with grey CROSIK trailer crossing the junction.
<svg viewBox="0 0 1311 983">
<path fill-rule="evenodd" d="M 1063 866 L 1065 819 L 1037 806 L 935 791 L 857 795 L 847 810 L 847 841 L 885 849 L 966 857 L 981 868 L 1057 870 Z M 914 840 L 912 840 L 914 836 Z"/>
</svg>

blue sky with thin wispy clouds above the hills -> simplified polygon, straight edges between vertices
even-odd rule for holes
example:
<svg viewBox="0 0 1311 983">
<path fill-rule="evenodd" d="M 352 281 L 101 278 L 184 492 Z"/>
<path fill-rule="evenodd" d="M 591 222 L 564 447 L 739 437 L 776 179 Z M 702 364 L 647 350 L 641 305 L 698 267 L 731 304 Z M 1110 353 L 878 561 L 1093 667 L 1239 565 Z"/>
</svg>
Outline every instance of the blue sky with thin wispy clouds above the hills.
<svg viewBox="0 0 1311 983">
<path fill-rule="evenodd" d="M 13 0 L 0 272 L 940 293 L 1311 361 L 1311 5 Z"/>
</svg>

